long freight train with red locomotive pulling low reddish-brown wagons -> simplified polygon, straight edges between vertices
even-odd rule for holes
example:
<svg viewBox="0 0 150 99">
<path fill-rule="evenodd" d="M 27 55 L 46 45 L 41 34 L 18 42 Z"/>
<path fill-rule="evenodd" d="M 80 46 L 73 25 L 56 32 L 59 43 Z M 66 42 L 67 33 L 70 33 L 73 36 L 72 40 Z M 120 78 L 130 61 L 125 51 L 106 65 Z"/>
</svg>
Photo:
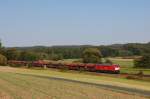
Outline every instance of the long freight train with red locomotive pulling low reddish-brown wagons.
<svg viewBox="0 0 150 99">
<path fill-rule="evenodd" d="M 93 63 L 63 63 L 57 61 L 8 61 L 9 65 L 66 68 L 69 70 L 82 70 L 92 72 L 120 73 L 120 66 L 116 64 L 93 64 Z"/>
</svg>

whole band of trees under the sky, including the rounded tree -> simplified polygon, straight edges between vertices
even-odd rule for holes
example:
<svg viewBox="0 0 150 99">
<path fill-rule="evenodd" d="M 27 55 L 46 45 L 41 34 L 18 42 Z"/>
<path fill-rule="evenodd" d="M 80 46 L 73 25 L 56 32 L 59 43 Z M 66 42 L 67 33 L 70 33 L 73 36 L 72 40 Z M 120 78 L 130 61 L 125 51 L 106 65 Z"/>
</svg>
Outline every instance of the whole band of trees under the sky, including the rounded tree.
<svg viewBox="0 0 150 99">
<path fill-rule="evenodd" d="M 98 53 L 98 51 L 100 53 Z M 97 54 L 95 55 L 95 53 Z M 86 59 L 84 60 L 84 62 L 100 63 L 101 57 L 144 56 L 145 54 L 147 55 L 150 54 L 150 42 L 113 44 L 107 46 L 82 45 L 82 46 L 51 46 L 51 47 L 45 46 L 3 47 L 0 42 L 0 61 L 6 60 L 35 61 L 35 60 L 61 60 L 61 59 L 84 58 Z M 139 60 L 136 60 L 135 64 L 138 64 L 139 62 L 140 62 Z"/>
</svg>

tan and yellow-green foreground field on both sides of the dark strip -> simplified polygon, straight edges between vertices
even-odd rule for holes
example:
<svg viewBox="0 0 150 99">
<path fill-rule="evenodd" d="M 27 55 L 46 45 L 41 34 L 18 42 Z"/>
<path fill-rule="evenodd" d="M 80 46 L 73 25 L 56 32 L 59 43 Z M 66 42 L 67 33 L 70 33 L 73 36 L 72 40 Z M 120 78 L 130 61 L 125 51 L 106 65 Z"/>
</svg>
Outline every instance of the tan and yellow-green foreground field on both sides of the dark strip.
<svg viewBox="0 0 150 99">
<path fill-rule="evenodd" d="M 122 93 L 90 84 L 51 79 L 50 77 L 150 89 L 149 82 L 82 73 L 0 66 L 0 99 L 148 99 L 140 95 Z"/>
</svg>

